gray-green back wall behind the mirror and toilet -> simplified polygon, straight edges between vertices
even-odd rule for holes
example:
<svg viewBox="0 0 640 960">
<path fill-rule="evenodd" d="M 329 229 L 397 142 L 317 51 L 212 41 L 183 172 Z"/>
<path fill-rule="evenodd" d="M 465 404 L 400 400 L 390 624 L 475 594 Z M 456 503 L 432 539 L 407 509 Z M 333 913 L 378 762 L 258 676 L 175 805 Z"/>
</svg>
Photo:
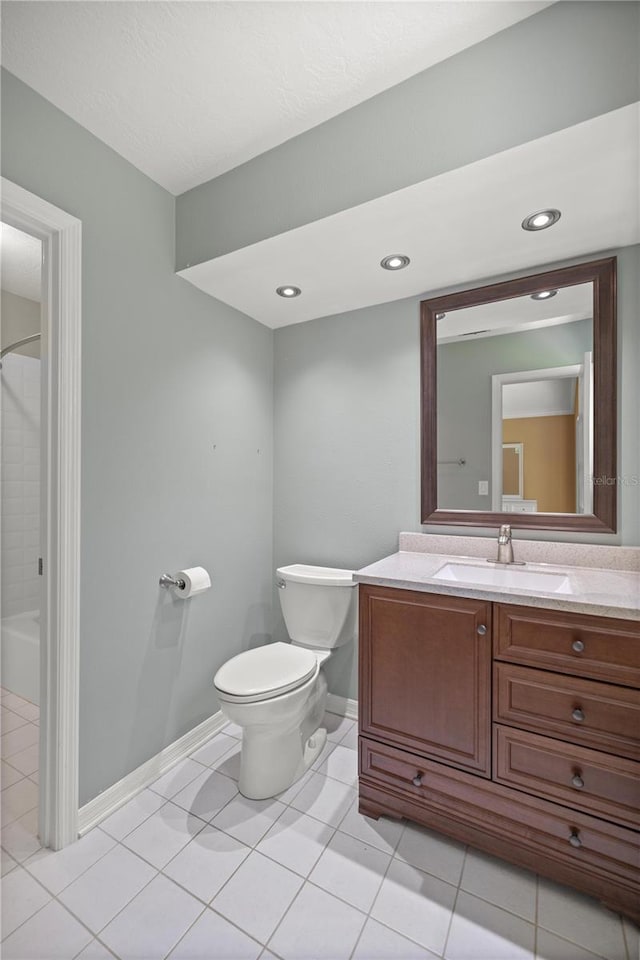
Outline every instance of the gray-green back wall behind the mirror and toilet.
<svg viewBox="0 0 640 960">
<path fill-rule="evenodd" d="M 619 488 L 619 532 L 517 531 L 517 538 L 640 545 L 633 483 L 640 477 L 640 247 L 597 251 L 593 259 L 612 254 L 618 256 L 619 469 L 629 479 Z M 394 553 L 401 530 L 487 535 L 482 528 L 420 525 L 419 299 L 458 289 L 276 331 L 277 565 L 361 567 Z M 277 609 L 275 615 L 275 635 L 284 637 Z M 351 647 L 337 651 L 328 676 L 334 693 L 357 697 Z"/>
</svg>

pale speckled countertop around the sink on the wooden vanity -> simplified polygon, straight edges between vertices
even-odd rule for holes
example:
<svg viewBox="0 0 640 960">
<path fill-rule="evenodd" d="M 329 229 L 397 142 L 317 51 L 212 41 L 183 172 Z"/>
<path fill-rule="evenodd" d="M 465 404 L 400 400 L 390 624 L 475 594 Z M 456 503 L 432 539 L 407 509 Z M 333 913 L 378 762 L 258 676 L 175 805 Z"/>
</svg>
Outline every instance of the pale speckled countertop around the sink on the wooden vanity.
<svg viewBox="0 0 640 960">
<path fill-rule="evenodd" d="M 595 567 L 526 563 L 515 570 L 532 573 L 564 574 L 569 578 L 567 593 L 544 593 L 518 586 L 475 585 L 435 580 L 445 564 L 479 567 L 483 559 L 461 557 L 451 553 L 426 553 L 401 550 L 354 574 L 359 583 L 406 590 L 422 590 L 454 597 L 473 597 L 573 613 L 591 613 L 604 617 L 640 620 L 640 572 L 633 570 L 598 569 Z M 486 561 L 485 561 L 486 563 Z M 489 567 L 489 564 L 486 564 Z M 511 569 L 511 568 L 509 568 Z"/>
</svg>

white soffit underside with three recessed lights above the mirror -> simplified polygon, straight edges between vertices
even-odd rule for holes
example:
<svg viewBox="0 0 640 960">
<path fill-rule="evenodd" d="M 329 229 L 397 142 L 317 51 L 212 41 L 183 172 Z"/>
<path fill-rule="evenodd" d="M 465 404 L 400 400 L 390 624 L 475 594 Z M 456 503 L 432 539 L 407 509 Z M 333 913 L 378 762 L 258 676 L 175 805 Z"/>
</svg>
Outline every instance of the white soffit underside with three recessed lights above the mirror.
<svg viewBox="0 0 640 960">
<path fill-rule="evenodd" d="M 633 104 L 180 276 L 276 328 L 638 243 L 639 131 Z M 550 206 L 562 211 L 555 226 L 522 230 L 525 216 Z M 382 270 L 391 253 L 410 266 Z M 302 295 L 276 296 L 281 284 Z"/>
</svg>

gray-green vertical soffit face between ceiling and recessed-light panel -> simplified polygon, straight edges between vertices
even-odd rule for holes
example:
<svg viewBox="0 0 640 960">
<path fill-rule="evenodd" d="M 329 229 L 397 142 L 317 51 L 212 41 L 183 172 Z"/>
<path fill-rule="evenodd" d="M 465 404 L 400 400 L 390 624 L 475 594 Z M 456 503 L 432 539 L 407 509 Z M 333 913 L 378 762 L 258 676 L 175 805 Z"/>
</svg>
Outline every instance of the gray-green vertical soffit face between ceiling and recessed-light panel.
<svg viewBox="0 0 640 960">
<path fill-rule="evenodd" d="M 178 269 L 638 99 L 640 8 L 555 3 L 178 198 Z"/>
</svg>

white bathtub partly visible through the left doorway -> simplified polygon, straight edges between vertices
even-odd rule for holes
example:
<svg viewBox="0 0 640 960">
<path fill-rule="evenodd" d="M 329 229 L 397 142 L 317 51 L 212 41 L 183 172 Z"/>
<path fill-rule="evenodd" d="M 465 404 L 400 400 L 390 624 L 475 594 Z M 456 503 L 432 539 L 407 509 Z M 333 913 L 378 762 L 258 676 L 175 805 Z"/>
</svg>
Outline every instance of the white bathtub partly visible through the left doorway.
<svg viewBox="0 0 640 960">
<path fill-rule="evenodd" d="M 16 613 L 0 621 L 2 686 L 19 697 L 40 703 L 40 613 Z"/>
</svg>

